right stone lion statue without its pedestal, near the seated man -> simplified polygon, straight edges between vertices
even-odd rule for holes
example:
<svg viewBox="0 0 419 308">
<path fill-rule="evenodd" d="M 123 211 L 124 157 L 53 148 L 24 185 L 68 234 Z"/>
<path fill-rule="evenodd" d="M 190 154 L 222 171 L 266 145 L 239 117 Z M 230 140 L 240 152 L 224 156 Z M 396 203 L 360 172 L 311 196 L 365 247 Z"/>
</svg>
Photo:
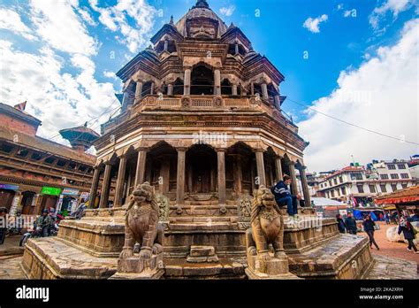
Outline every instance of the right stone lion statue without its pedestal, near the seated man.
<svg viewBox="0 0 419 308">
<path fill-rule="evenodd" d="M 274 258 L 286 258 L 283 246 L 284 219 L 270 189 L 263 185 L 255 192 L 250 222 L 251 227 L 246 234 L 248 257 L 256 256 L 259 261 L 269 261 L 268 248 L 272 244 Z"/>
</svg>

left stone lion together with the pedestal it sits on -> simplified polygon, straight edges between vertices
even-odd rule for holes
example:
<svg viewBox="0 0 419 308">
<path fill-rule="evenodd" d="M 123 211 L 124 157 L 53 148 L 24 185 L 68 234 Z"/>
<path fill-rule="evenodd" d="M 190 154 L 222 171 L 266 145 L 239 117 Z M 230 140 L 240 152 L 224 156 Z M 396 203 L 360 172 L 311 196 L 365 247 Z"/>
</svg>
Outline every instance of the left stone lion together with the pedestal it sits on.
<svg viewBox="0 0 419 308">
<path fill-rule="evenodd" d="M 126 239 L 118 272 L 110 279 L 159 279 L 164 274 L 163 234 L 159 205 L 149 182 L 133 190 L 126 210 Z M 135 243 L 140 252 L 134 253 Z"/>
</svg>

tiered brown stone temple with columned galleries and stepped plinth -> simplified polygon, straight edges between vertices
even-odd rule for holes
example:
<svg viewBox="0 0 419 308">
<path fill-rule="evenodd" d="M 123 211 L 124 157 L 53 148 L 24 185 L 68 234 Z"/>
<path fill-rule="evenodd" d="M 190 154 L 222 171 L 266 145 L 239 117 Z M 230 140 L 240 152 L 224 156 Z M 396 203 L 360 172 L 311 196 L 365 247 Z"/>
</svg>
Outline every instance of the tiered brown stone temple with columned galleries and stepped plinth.
<svg viewBox="0 0 419 308">
<path fill-rule="evenodd" d="M 124 246 L 129 196 L 148 181 L 164 226 L 163 278 L 246 278 L 254 191 L 286 173 L 297 193 L 295 169 L 303 202 L 299 223 L 284 228 L 290 273 L 366 277 L 374 266 L 368 240 L 340 235 L 335 219 L 318 219 L 310 207 L 303 160 L 309 143 L 281 112 L 282 73 L 205 0 L 151 42 L 117 73 L 122 112 L 95 141 L 90 199 L 100 190 L 99 208 L 63 220 L 56 238 L 29 241 L 27 277 L 110 278 Z"/>
</svg>

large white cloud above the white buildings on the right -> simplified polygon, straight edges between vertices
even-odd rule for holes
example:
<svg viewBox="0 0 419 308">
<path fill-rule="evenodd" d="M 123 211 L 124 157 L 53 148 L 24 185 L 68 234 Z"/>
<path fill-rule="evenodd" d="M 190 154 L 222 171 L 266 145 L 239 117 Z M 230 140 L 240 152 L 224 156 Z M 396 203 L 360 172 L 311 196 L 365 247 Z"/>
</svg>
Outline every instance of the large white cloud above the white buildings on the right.
<svg viewBox="0 0 419 308">
<path fill-rule="evenodd" d="M 359 68 L 341 72 L 339 87 L 313 103 L 313 109 L 398 140 L 366 132 L 316 112 L 298 124 L 310 142 L 305 162 L 310 170 L 347 166 L 351 155 L 362 164 L 372 159 L 408 158 L 418 152 L 419 19 L 406 23 L 400 41 L 377 49 Z"/>
</svg>

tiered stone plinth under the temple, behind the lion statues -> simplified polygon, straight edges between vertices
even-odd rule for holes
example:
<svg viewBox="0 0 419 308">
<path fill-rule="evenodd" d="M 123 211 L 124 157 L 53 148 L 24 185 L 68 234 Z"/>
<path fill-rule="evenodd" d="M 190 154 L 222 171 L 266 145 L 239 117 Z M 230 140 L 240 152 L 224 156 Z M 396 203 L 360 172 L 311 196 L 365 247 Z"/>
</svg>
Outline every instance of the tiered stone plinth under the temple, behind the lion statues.
<svg viewBox="0 0 419 308">
<path fill-rule="evenodd" d="M 116 273 L 124 241 L 124 219 L 120 214 L 95 210 L 81 220 L 63 222 L 56 238 L 27 243 L 22 262 L 27 277 L 108 279 Z M 210 221 L 205 217 L 177 217 L 164 223 L 162 278 L 247 278 L 243 226 L 229 217 Z M 203 256 L 205 262 L 197 255 L 200 249 L 196 247 L 209 251 Z M 297 221 L 286 219 L 284 247 L 290 272 L 304 279 L 362 279 L 374 266 L 368 240 L 339 234 L 334 219 L 312 215 Z M 187 262 L 191 255 L 194 262 Z"/>
</svg>

